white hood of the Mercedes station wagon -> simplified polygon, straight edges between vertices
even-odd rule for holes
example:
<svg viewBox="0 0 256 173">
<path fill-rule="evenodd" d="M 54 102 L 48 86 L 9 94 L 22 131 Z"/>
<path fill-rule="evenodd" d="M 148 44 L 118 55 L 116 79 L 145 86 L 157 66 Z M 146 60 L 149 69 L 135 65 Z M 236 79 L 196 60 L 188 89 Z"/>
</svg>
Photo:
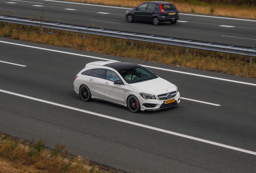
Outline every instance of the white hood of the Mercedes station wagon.
<svg viewBox="0 0 256 173">
<path fill-rule="evenodd" d="M 143 82 L 133 83 L 129 84 L 130 88 L 141 91 L 141 92 L 147 92 L 150 94 L 151 92 L 156 92 L 164 89 L 169 89 L 174 86 L 171 82 L 168 82 L 167 80 L 163 78 L 155 78 L 152 80 L 146 80 Z"/>
</svg>

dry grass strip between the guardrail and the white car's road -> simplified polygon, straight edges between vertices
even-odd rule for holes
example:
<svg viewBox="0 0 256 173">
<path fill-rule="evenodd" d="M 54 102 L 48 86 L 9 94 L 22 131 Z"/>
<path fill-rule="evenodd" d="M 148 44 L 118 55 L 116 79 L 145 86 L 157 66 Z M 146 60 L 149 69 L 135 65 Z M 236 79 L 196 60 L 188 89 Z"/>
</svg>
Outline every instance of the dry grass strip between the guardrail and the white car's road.
<svg viewBox="0 0 256 173">
<path fill-rule="evenodd" d="M 49 34 L 49 32 L 53 33 Z M 189 54 L 186 56 L 186 48 L 177 46 L 134 41 L 132 47 L 131 40 L 89 34 L 86 34 L 86 38 L 83 40 L 83 34 L 80 33 L 44 29 L 41 34 L 40 28 L 15 24 L 5 24 L 5 26 L 0 24 L 0 36 L 256 78 L 255 59 L 250 65 L 250 57 L 242 55 L 189 49 Z"/>
</svg>

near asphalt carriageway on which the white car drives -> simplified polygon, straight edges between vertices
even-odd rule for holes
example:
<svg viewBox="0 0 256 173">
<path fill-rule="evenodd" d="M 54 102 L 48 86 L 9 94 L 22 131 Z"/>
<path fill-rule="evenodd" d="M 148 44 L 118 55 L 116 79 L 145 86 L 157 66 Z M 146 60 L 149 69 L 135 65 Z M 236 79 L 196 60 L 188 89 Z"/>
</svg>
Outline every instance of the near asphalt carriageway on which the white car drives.
<svg viewBox="0 0 256 173">
<path fill-rule="evenodd" d="M 0 38 L 0 132 L 65 145 L 69 153 L 135 173 L 254 173 L 256 79 Z M 181 104 L 131 113 L 83 102 L 76 74 L 97 60 L 147 66 Z"/>
</svg>

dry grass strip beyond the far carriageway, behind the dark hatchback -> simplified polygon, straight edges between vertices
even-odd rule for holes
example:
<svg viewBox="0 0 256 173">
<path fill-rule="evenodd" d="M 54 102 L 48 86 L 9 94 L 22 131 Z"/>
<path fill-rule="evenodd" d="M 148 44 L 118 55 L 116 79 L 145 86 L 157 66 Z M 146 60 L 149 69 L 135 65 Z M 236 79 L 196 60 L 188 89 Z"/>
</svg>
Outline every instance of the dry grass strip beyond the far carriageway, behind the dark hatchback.
<svg viewBox="0 0 256 173">
<path fill-rule="evenodd" d="M 83 2 L 90 4 L 103 4 L 111 6 L 123 6 L 123 7 L 136 7 L 142 2 L 152 0 L 68 0 L 72 2 Z M 167 0 L 172 2 L 178 8 L 179 12 L 194 13 L 214 16 L 226 16 L 235 18 L 256 19 L 256 7 L 255 6 L 233 6 L 223 4 L 206 4 L 197 1 L 190 1 L 190 3 L 184 0 Z"/>
</svg>

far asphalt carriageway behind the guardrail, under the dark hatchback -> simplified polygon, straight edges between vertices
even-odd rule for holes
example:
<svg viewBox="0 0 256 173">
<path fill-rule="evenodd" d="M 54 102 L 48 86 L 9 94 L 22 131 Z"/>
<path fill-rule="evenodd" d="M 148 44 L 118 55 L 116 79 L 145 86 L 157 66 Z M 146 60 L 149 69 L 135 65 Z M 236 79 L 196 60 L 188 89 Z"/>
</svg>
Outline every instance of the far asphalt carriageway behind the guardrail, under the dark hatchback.
<svg viewBox="0 0 256 173">
<path fill-rule="evenodd" d="M 178 7 L 179 8 L 179 7 Z M 125 11 L 130 8 L 72 3 L 54 0 L 0 0 L 0 14 L 95 26 L 114 30 L 201 40 L 237 46 L 256 46 L 256 20 L 180 14 L 176 24 L 164 22 L 128 23 Z"/>
</svg>

